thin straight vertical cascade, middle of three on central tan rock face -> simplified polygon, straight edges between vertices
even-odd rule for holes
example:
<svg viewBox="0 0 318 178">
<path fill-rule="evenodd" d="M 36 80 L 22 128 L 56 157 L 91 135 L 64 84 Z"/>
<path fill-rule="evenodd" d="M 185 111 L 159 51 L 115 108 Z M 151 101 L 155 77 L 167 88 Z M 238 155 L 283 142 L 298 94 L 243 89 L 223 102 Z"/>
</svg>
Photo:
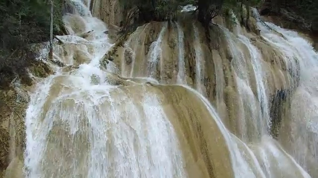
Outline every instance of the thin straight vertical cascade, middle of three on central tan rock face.
<svg viewBox="0 0 318 178">
<path fill-rule="evenodd" d="M 184 34 L 180 25 L 176 22 L 177 30 L 178 30 L 178 74 L 177 74 L 177 84 L 185 84 L 186 85 L 186 74 L 184 67 Z"/>
</svg>

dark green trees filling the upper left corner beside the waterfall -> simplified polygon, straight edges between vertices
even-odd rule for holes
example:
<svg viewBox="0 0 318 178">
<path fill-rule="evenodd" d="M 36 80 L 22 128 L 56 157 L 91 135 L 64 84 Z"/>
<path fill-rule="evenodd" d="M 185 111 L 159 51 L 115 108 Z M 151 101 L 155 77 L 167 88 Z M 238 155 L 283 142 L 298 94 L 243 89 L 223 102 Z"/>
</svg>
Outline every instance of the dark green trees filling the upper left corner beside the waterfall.
<svg viewBox="0 0 318 178">
<path fill-rule="evenodd" d="M 61 4 L 54 5 L 54 33 L 62 24 Z M 7 88 L 16 75 L 29 83 L 26 68 L 34 63 L 35 53 L 29 44 L 50 37 L 50 4 L 48 0 L 0 1 L 0 89 Z"/>
</svg>

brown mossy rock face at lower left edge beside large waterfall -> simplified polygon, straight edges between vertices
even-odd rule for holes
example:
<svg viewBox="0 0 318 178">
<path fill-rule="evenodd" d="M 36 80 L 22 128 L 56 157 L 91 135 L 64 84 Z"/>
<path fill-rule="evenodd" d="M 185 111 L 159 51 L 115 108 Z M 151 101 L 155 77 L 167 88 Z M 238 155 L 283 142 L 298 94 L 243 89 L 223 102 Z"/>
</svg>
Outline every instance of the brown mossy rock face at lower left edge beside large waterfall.
<svg viewBox="0 0 318 178">
<path fill-rule="evenodd" d="M 23 89 L 0 90 L 0 172 L 11 159 L 23 157 L 25 146 L 24 116 L 28 95 Z"/>
</svg>

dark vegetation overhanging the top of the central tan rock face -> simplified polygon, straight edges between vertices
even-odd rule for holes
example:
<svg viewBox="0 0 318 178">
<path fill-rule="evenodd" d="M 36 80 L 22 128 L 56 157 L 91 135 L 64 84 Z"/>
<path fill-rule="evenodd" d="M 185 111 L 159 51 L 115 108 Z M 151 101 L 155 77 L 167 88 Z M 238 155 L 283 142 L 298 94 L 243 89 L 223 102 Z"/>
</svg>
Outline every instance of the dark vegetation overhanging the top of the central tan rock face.
<svg viewBox="0 0 318 178">
<path fill-rule="evenodd" d="M 181 6 L 197 7 L 198 20 L 207 28 L 211 20 L 228 9 L 242 10 L 242 5 L 254 6 L 260 0 L 119 0 L 125 9 L 123 32 L 132 31 L 149 21 L 174 20 Z M 239 7 L 239 8 L 238 8 Z"/>
</svg>

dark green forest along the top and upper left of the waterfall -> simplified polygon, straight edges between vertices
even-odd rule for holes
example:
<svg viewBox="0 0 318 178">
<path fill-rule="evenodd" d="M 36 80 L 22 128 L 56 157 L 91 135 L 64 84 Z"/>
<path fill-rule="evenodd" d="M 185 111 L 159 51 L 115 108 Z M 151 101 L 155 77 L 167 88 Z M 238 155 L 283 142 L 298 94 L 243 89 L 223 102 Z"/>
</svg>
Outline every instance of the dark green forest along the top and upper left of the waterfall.
<svg viewBox="0 0 318 178">
<path fill-rule="evenodd" d="M 64 0 L 52 0 L 54 4 L 54 34 L 60 34 Z M 127 17 L 122 32 L 134 30 L 149 21 L 174 20 L 180 6 L 197 6 L 197 17 L 204 27 L 211 19 L 229 9 L 241 11 L 243 4 L 259 6 L 269 4 L 268 13 L 279 15 L 282 8 L 295 11 L 312 22 L 318 18 L 318 0 L 119 0 Z M 247 12 L 249 12 L 247 10 Z M 304 13 L 305 12 L 305 13 Z M 46 42 L 50 38 L 49 0 L 1 0 L 0 1 L 0 89 L 16 76 L 27 82 L 26 68 L 36 54 L 29 44 Z M 317 20 L 316 20 L 317 21 Z M 241 21 L 244 25 L 244 22 Z"/>
</svg>

